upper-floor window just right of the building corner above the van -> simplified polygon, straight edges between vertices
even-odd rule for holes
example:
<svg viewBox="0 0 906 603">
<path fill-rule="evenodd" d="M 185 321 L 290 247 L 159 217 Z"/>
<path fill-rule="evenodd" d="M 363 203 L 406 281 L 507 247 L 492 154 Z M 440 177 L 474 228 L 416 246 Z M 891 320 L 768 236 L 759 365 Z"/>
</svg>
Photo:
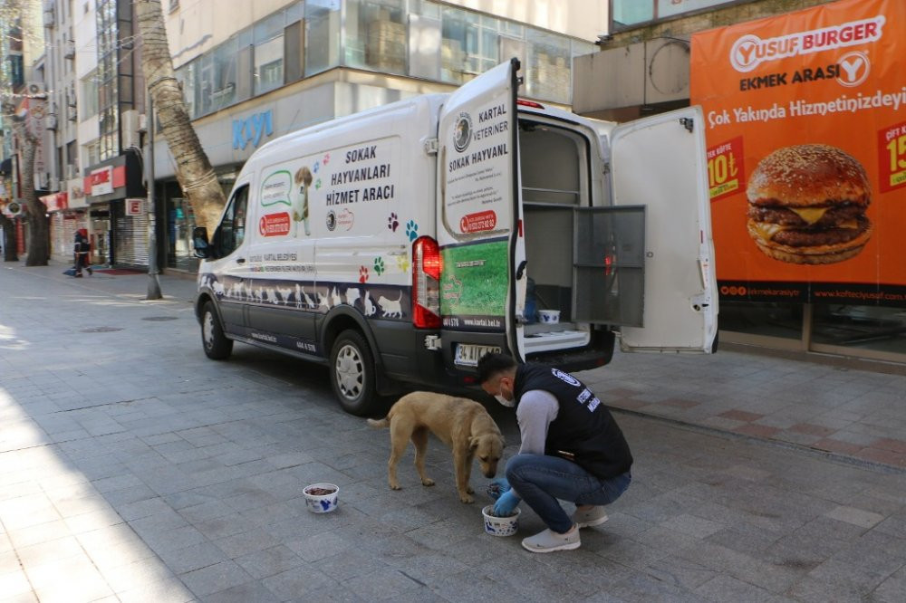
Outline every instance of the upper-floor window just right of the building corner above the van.
<svg viewBox="0 0 906 603">
<path fill-rule="evenodd" d="M 406 72 L 406 13 L 402 0 L 349 0 L 343 40 L 345 64 L 386 73 Z"/>
</svg>

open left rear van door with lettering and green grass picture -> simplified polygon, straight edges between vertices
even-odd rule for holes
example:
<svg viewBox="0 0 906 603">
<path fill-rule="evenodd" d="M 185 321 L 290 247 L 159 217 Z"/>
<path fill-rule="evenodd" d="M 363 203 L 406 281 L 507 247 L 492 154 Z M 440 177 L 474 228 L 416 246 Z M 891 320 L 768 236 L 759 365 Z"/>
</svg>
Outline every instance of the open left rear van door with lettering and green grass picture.
<svg viewBox="0 0 906 603">
<path fill-rule="evenodd" d="M 439 116 L 439 294 L 448 366 L 474 367 L 494 349 L 525 357 L 518 69 L 512 59 L 469 81 Z"/>
</svg>

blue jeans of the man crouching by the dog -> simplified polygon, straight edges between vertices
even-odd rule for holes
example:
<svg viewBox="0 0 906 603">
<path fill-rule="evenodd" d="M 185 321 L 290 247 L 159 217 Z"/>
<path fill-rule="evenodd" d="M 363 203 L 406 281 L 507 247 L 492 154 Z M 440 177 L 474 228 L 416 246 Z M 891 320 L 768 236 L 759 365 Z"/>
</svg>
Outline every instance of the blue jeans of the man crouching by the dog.
<svg viewBox="0 0 906 603">
<path fill-rule="evenodd" d="M 559 456 L 516 455 L 506 463 L 506 479 L 548 528 L 562 534 L 573 520 L 557 499 L 577 506 L 610 504 L 626 492 L 632 477 L 626 472 L 600 479 Z"/>
</svg>

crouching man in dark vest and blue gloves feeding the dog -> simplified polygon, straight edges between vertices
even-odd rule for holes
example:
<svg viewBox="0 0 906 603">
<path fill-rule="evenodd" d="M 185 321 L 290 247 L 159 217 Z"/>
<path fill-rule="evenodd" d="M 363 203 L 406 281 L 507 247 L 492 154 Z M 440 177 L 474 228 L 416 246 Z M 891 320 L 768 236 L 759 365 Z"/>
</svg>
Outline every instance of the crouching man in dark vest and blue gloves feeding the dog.
<svg viewBox="0 0 906 603">
<path fill-rule="evenodd" d="M 481 388 L 505 407 L 516 407 L 521 444 L 495 480 L 498 516 L 520 500 L 547 530 L 522 541 L 533 552 L 578 549 L 579 529 L 607 521 L 603 505 L 626 492 L 632 455 L 620 426 L 589 388 L 569 373 L 517 365 L 505 354 L 478 361 Z M 570 517 L 559 500 L 575 503 Z"/>
</svg>

